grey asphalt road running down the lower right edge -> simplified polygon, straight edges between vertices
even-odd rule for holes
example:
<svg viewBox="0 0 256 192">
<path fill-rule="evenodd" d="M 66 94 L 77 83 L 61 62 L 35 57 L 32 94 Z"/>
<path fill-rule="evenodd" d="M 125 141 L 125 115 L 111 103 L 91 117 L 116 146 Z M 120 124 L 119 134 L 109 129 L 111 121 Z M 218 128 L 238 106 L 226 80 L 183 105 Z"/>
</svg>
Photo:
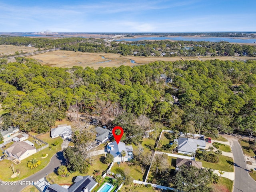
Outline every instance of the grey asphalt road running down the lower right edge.
<svg viewBox="0 0 256 192">
<path fill-rule="evenodd" d="M 256 182 L 250 177 L 242 148 L 236 139 L 230 140 L 235 165 L 235 182 L 233 192 L 254 192 Z"/>
</svg>

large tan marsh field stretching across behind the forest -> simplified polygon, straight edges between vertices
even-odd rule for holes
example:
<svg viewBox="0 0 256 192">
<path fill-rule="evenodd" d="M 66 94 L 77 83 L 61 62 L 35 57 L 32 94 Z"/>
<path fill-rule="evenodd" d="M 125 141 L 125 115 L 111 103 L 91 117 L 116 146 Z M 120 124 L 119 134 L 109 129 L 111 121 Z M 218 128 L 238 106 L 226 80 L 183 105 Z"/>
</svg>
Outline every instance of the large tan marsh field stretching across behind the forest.
<svg viewBox="0 0 256 192">
<path fill-rule="evenodd" d="M 104 58 L 102 58 L 104 56 Z M 42 65 L 54 66 L 54 67 L 69 67 L 82 66 L 93 67 L 98 69 L 102 67 L 118 67 L 121 65 L 134 66 L 138 64 L 147 64 L 154 61 L 176 61 L 181 60 L 180 57 L 140 57 L 140 56 L 121 56 L 120 54 L 106 54 L 106 53 L 86 53 L 86 52 L 73 52 L 58 50 L 54 52 L 47 52 L 43 54 L 37 54 L 29 56 L 41 62 Z M 198 57 L 182 57 L 186 60 L 199 60 Z M 238 60 L 230 56 L 221 57 L 200 57 L 202 60 Z M 253 59 L 252 57 L 239 57 L 244 60 Z M 132 63 L 130 60 L 134 60 L 136 63 Z"/>
</svg>

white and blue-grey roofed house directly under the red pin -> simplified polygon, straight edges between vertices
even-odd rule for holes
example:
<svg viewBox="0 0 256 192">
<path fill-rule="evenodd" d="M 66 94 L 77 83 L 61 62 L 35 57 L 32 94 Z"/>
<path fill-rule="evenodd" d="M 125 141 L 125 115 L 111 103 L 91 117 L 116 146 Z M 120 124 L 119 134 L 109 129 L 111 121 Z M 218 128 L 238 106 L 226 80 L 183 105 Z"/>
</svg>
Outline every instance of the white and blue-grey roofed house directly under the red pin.
<svg viewBox="0 0 256 192">
<path fill-rule="evenodd" d="M 108 153 L 112 154 L 114 156 L 114 162 L 120 162 L 120 161 L 128 161 L 131 160 L 133 155 L 132 151 L 133 148 L 131 145 L 125 145 L 124 142 L 119 142 L 118 144 L 116 141 L 111 142 L 107 146 Z M 126 152 L 126 155 L 124 157 L 121 156 L 122 151 Z"/>
</svg>

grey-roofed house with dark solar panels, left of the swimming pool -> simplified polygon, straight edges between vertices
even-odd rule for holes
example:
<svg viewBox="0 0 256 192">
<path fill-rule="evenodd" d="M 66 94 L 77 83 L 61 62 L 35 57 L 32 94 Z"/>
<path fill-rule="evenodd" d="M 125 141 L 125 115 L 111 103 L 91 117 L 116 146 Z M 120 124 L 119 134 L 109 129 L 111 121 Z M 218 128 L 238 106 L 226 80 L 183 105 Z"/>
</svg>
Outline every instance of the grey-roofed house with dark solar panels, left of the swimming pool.
<svg viewBox="0 0 256 192">
<path fill-rule="evenodd" d="M 90 176 L 77 176 L 68 189 L 58 185 L 49 185 L 45 192 L 91 192 L 96 186 L 97 182 Z"/>
</svg>

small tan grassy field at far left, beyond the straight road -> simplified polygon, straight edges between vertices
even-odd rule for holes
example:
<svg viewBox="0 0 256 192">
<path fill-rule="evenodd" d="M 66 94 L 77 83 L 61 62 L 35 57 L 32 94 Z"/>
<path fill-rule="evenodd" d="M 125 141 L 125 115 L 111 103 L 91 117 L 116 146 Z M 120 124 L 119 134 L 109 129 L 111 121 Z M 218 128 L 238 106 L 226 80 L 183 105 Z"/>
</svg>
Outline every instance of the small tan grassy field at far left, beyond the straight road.
<svg viewBox="0 0 256 192">
<path fill-rule="evenodd" d="M 21 50 L 25 52 L 31 52 L 38 50 L 38 48 L 34 47 L 26 47 L 26 46 L 14 46 L 14 45 L 0 45 L 0 55 L 13 55 L 16 51 L 21 52 Z"/>
</svg>

